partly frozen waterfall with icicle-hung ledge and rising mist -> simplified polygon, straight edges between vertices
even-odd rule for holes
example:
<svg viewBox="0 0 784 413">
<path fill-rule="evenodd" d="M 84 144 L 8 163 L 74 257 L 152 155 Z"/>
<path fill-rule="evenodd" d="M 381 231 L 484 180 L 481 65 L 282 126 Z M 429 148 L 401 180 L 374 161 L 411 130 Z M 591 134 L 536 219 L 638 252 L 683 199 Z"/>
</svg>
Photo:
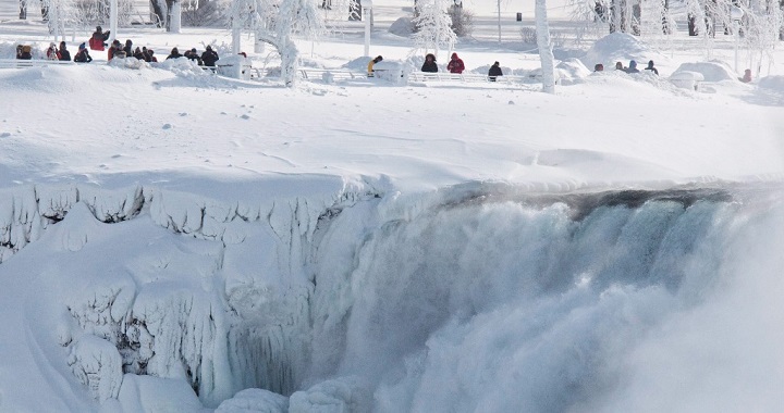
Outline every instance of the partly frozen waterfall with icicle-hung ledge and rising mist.
<svg viewBox="0 0 784 413">
<path fill-rule="evenodd" d="M 144 410 L 156 388 L 220 412 L 784 406 L 776 188 L 7 199 L 25 377 L 76 384 L 41 384 L 66 406 Z"/>
</svg>

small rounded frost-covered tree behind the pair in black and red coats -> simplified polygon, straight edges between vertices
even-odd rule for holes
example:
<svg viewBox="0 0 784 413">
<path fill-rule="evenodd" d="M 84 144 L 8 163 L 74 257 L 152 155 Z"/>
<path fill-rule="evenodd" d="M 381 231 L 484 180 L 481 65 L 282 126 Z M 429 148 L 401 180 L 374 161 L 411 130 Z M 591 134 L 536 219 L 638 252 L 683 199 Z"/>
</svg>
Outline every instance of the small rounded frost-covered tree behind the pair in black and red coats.
<svg viewBox="0 0 784 413">
<path fill-rule="evenodd" d="M 436 55 L 441 47 L 452 50 L 457 35 L 452 30 L 452 17 L 446 13 L 444 2 L 419 0 L 416 8 L 417 16 L 412 22 L 417 28 L 414 42 L 426 52 L 432 50 Z"/>
</svg>

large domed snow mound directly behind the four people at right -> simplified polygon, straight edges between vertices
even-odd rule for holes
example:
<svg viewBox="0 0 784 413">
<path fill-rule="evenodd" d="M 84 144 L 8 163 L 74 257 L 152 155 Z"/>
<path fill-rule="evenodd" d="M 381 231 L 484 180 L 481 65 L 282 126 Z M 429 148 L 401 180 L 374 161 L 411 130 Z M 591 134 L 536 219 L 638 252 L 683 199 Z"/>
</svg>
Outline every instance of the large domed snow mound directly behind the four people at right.
<svg viewBox="0 0 784 413">
<path fill-rule="evenodd" d="M 597 63 L 613 67 L 617 61 L 626 65 L 630 60 L 648 62 L 669 59 L 632 35 L 612 33 L 597 40 L 580 60 L 588 67 L 593 67 Z"/>
</svg>

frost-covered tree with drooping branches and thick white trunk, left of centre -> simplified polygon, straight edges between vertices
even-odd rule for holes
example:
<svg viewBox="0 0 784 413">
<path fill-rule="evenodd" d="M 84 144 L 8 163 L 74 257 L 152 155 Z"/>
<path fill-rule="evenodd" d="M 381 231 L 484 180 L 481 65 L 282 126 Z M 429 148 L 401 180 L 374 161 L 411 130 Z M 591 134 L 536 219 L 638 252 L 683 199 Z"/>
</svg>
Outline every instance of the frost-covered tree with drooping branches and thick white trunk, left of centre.
<svg viewBox="0 0 784 413">
<path fill-rule="evenodd" d="M 259 41 L 271 45 L 281 58 L 281 79 L 296 83 L 299 51 L 293 36 L 315 39 L 324 32 L 323 16 L 313 0 L 234 0 L 232 28 L 249 28 Z M 235 48 L 238 47 L 235 36 Z"/>
</svg>

